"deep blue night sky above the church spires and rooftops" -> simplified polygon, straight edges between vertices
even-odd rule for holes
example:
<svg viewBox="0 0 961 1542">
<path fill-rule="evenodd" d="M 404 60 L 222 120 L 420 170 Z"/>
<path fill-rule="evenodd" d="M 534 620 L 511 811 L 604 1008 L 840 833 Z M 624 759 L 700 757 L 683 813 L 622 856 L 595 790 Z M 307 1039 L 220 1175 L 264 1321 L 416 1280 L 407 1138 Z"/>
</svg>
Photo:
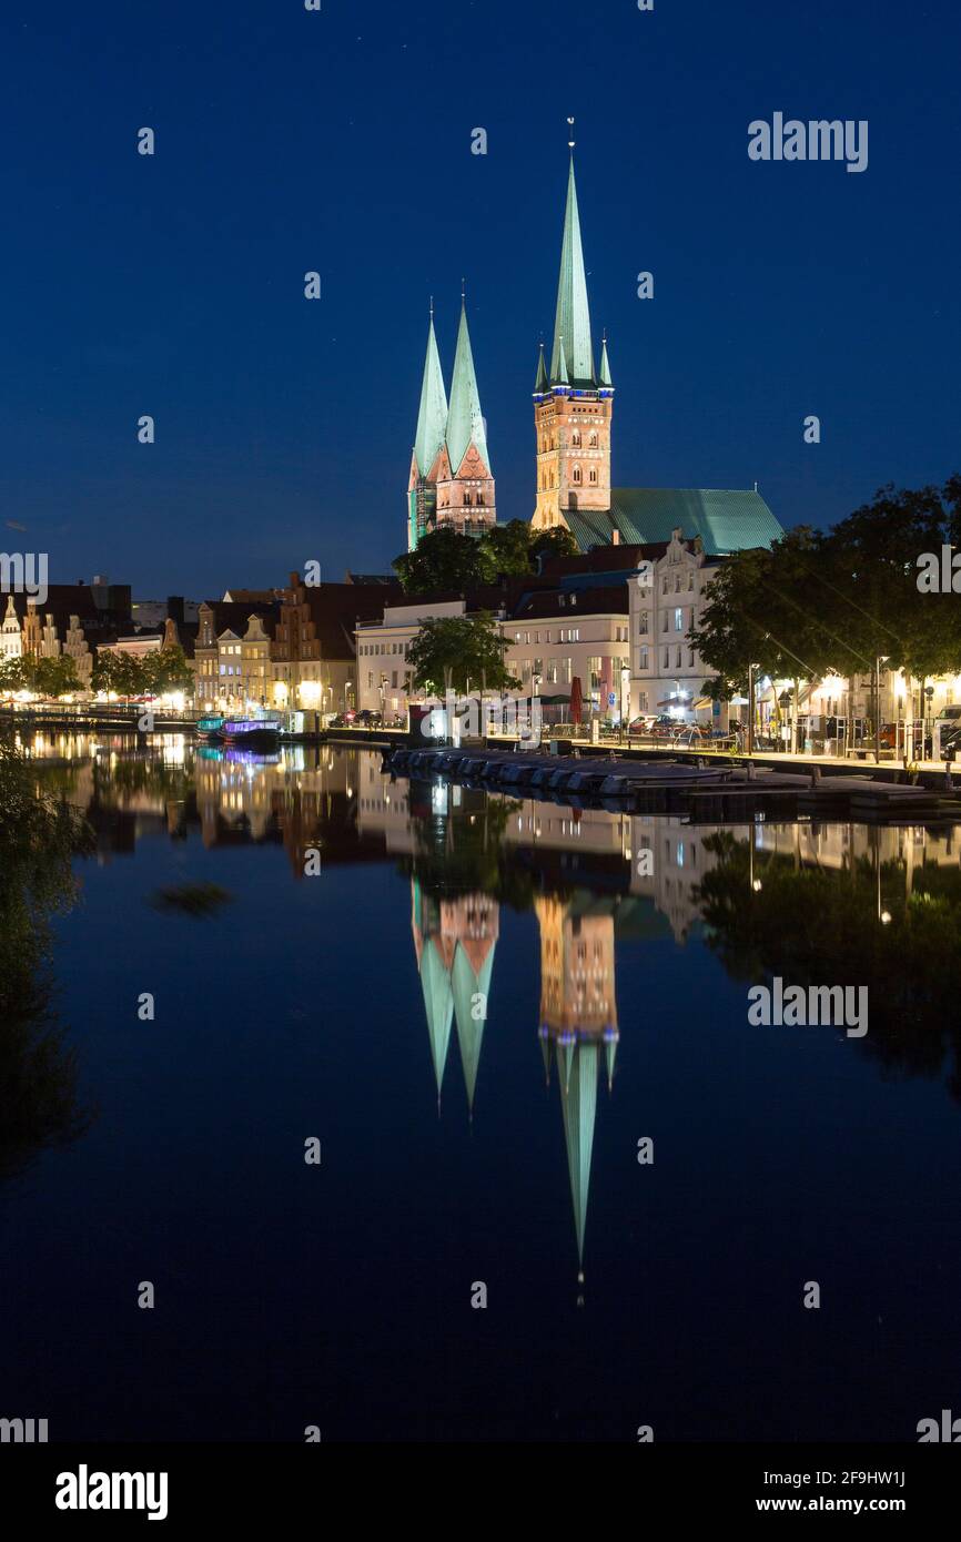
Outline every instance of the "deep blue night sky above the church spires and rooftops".
<svg viewBox="0 0 961 1542">
<path fill-rule="evenodd" d="M 961 466 L 953 0 L 51 0 L 8 8 L 2 52 L 0 489 L 26 530 L 0 534 L 56 580 L 384 569 L 427 296 L 449 378 L 463 273 L 498 513 L 528 518 L 568 113 L 615 484 L 757 478 L 782 524 L 824 524 Z M 776 109 L 867 119 L 868 170 L 751 162 Z"/>
</svg>

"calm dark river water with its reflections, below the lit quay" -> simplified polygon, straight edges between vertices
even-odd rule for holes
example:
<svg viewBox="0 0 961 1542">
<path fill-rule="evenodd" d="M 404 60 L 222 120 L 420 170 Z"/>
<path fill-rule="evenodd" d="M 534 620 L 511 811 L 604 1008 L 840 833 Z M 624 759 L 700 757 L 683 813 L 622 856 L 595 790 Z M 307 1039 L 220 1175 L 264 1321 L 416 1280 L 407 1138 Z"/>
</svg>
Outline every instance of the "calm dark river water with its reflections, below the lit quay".
<svg viewBox="0 0 961 1542">
<path fill-rule="evenodd" d="M 77 1129 L 28 1121 L 0 1187 L 0 1414 L 915 1440 L 961 1406 L 952 837 L 719 834 L 359 751 L 32 754 L 97 848 L 39 1073 Z M 868 984 L 867 1036 L 750 1025 L 773 973 Z"/>
</svg>

